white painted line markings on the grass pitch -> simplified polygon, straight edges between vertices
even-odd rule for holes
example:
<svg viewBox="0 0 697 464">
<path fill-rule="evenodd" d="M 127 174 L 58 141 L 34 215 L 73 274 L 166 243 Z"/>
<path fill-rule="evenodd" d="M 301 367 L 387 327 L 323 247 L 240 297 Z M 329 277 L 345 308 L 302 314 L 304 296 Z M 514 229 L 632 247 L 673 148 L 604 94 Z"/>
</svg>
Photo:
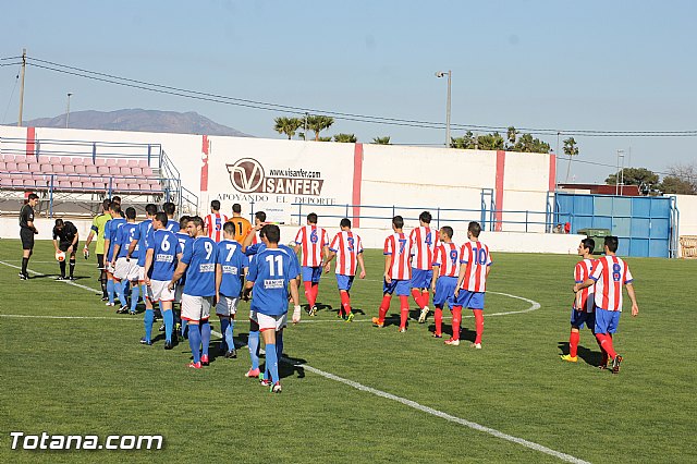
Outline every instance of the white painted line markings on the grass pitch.
<svg viewBox="0 0 697 464">
<path fill-rule="evenodd" d="M 4 265 L 4 266 L 9 266 L 11 268 L 21 269 L 17 266 L 14 266 L 14 265 L 11 265 L 11 264 L 4 262 L 4 261 L 0 261 L 0 264 Z M 36 274 L 36 276 L 44 276 L 40 272 L 36 272 L 36 271 L 33 271 L 33 270 L 29 270 L 29 269 L 27 269 L 27 270 L 29 272 L 32 272 L 33 274 Z M 61 282 L 65 282 L 65 283 L 71 284 L 71 285 L 78 286 L 78 288 L 87 290 L 89 292 L 96 292 L 95 289 L 91 289 L 91 288 L 86 286 L 86 285 L 81 285 L 81 284 L 77 284 L 75 282 L 71 282 L 71 281 L 61 281 Z M 491 293 L 494 293 L 494 292 L 491 292 Z M 539 307 L 540 307 L 539 303 L 537 303 L 537 302 L 535 302 L 533 300 L 524 298 L 522 296 L 516 296 L 516 295 L 510 295 L 508 293 L 498 293 L 498 294 L 501 294 L 501 295 L 504 295 L 504 296 L 510 296 L 512 298 L 523 300 L 525 302 L 530 303 L 531 306 L 529 308 L 527 308 L 527 309 L 519 310 L 519 312 L 499 313 L 499 314 L 492 314 L 492 315 L 489 315 L 489 316 L 494 316 L 494 315 L 496 316 L 504 316 L 504 315 L 508 315 L 508 314 L 528 313 L 528 312 L 533 312 L 533 310 L 539 309 Z M 2 315 L 0 315 L 0 317 L 41 318 L 41 319 L 119 319 L 119 320 L 135 320 L 135 321 L 138 321 L 138 322 L 140 321 L 140 318 L 97 317 L 97 316 L 29 316 L 29 315 L 24 315 L 23 316 L 23 315 L 4 315 L 4 314 L 2 314 Z M 216 335 L 216 337 L 222 338 L 222 334 L 219 333 L 216 330 L 212 330 L 211 333 L 213 335 Z M 288 363 L 288 364 L 293 364 L 288 358 L 281 358 L 281 361 L 284 362 L 284 363 Z M 493 429 L 493 428 L 490 428 L 490 427 L 486 427 L 486 426 L 482 426 L 482 425 L 477 424 L 477 423 L 473 423 L 472 420 L 463 419 L 461 417 L 456 417 L 456 416 L 450 415 L 448 413 L 443 413 L 442 411 L 438 411 L 438 410 L 435 410 L 432 407 L 425 406 L 425 405 L 423 405 L 420 403 L 417 403 L 415 401 L 407 400 L 405 398 L 398 396 L 395 394 L 388 393 L 388 392 L 382 391 L 382 390 L 378 390 L 378 389 L 375 389 L 375 388 L 371 388 L 371 387 L 364 386 L 363 383 L 358 383 L 358 382 L 356 382 L 354 380 L 344 379 L 343 377 L 335 376 L 335 375 L 333 375 L 331 373 L 327 373 L 325 370 L 318 369 L 318 368 L 309 366 L 307 364 L 295 364 L 295 366 L 302 367 L 303 369 L 307 369 L 310 373 L 317 374 L 318 376 L 325 377 L 325 378 L 327 378 L 329 380 L 334 380 L 334 381 L 344 383 L 344 384 L 346 384 L 348 387 L 355 388 L 356 390 L 359 390 L 359 391 L 363 391 L 363 392 L 366 392 L 366 393 L 370 393 L 370 394 L 374 394 L 376 396 L 381 396 L 381 398 L 384 398 L 387 400 L 395 401 L 398 403 L 404 404 L 405 406 L 412 407 L 412 408 L 420 411 L 423 413 L 430 414 L 430 415 L 436 416 L 436 417 L 440 417 L 440 418 L 449 420 L 451 423 L 460 424 L 462 426 L 472 428 L 474 430 L 478 430 L 478 431 L 481 431 L 481 432 L 485 432 L 485 434 L 489 434 L 489 435 L 491 435 L 491 436 L 493 436 L 496 438 L 500 438 L 502 440 L 506 440 L 506 441 L 510 441 L 512 443 L 521 444 L 521 445 L 529 448 L 531 450 L 539 451 L 540 453 L 545 453 L 545 454 L 549 454 L 551 456 L 558 457 L 558 459 L 560 459 L 562 461 L 565 461 L 565 462 L 578 463 L 578 464 L 587 463 L 586 461 L 579 460 L 578 457 L 574 457 L 574 456 L 572 456 L 570 454 L 565 454 L 565 453 L 562 453 L 562 452 L 559 452 L 559 451 L 554 451 L 554 450 L 552 450 L 550 448 L 543 447 L 543 445 L 535 443 L 533 441 L 528 441 L 528 440 L 525 440 L 523 438 L 514 437 L 512 435 L 504 434 L 504 432 L 499 431 L 497 429 Z"/>
</svg>

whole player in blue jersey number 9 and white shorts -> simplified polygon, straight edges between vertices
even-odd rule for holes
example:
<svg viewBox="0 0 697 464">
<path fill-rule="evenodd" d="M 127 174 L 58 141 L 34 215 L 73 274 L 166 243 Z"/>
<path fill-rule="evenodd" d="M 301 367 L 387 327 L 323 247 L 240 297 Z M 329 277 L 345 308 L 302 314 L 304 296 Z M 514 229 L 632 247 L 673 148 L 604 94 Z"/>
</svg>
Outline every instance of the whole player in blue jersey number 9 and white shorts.
<svg viewBox="0 0 697 464">
<path fill-rule="evenodd" d="M 182 294 L 182 319 L 188 322 L 188 344 L 194 361 L 188 367 L 200 369 L 207 366 L 210 344 L 210 307 L 216 296 L 216 242 L 204 234 L 204 220 L 194 216 L 186 225 L 194 239 L 184 248 L 170 290 L 186 272 L 186 285 Z M 203 344 L 203 353 L 201 353 Z"/>
</svg>

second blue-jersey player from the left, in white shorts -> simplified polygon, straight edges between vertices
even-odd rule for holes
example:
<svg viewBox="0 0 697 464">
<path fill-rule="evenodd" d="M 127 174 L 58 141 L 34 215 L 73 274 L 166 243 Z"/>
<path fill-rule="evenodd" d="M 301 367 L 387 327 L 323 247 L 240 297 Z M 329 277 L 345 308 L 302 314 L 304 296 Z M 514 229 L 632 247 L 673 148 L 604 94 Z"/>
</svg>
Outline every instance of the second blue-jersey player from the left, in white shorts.
<svg viewBox="0 0 697 464">
<path fill-rule="evenodd" d="M 131 260 L 129 257 L 129 251 L 131 242 L 135 240 L 135 235 L 138 231 L 138 225 L 135 223 L 135 208 L 126 208 L 126 223 L 119 229 L 117 233 L 117 241 L 113 248 L 113 257 L 111 258 L 111 266 L 113 267 L 113 280 L 117 288 L 117 295 L 121 302 L 126 301 L 125 290 L 129 282 L 134 283 L 133 293 L 131 294 L 131 314 L 135 314 L 136 305 L 138 304 L 138 266 L 136 260 Z M 137 259 L 137 253 L 134 252 L 132 256 Z M 122 306 L 117 313 L 123 314 L 129 312 L 127 305 Z"/>
</svg>

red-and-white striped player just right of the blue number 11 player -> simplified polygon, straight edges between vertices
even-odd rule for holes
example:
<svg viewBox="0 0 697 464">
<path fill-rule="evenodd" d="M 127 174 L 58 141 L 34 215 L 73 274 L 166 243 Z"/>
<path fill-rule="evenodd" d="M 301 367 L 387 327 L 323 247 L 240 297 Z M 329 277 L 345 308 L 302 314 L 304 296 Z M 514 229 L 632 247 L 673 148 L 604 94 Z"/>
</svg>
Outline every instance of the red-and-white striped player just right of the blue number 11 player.
<svg viewBox="0 0 697 464">
<path fill-rule="evenodd" d="M 329 237 L 327 231 L 317 227 L 317 215 L 307 215 L 307 225 L 302 227 L 295 235 L 295 253 L 303 251 L 302 274 L 305 285 L 308 313 L 315 316 L 317 313 L 317 294 L 319 293 L 319 279 L 322 274 L 322 257 L 329 256 Z"/>
</svg>

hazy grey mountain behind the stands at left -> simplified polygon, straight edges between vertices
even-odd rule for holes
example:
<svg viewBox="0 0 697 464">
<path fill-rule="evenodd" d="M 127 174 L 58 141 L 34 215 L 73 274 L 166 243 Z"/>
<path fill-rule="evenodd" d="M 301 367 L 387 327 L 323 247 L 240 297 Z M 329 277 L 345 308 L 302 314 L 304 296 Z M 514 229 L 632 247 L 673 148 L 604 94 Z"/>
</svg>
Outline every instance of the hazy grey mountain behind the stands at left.
<svg viewBox="0 0 697 464">
<path fill-rule="evenodd" d="M 39 118 L 24 121 L 22 125 L 25 127 L 65 127 L 65 118 L 66 114 L 60 114 L 54 118 Z M 115 111 L 71 111 L 69 127 L 250 137 L 248 134 L 218 124 L 194 111 L 180 113 L 176 111 L 144 110 L 139 108 Z"/>
</svg>

